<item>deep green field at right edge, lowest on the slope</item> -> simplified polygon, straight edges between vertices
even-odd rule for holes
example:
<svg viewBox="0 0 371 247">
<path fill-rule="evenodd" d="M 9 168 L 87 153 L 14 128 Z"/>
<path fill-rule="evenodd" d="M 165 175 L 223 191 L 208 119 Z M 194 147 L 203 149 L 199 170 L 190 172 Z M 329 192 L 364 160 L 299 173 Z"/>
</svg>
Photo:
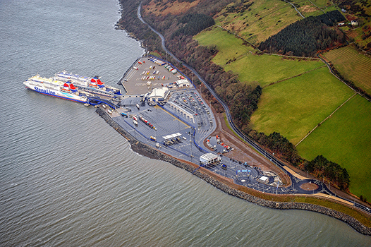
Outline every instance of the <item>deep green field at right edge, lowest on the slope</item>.
<svg viewBox="0 0 371 247">
<path fill-rule="evenodd" d="M 299 155 L 324 155 L 345 167 L 351 193 L 371 200 L 371 103 L 356 95 L 297 147 Z"/>
</svg>

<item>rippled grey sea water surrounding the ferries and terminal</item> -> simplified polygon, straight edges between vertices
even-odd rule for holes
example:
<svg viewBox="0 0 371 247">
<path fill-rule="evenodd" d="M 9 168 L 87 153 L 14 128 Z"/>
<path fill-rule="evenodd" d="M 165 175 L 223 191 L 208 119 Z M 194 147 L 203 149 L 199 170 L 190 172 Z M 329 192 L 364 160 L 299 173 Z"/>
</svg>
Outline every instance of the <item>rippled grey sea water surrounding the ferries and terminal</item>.
<svg viewBox="0 0 371 247">
<path fill-rule="evenodd" d="M 115 86 L 142 55 L 116 0 L 0 1 L 0 246 L 370 246 L 142 157 L 93 108 L 26 90 L 63 69 Z"/>
</svg>

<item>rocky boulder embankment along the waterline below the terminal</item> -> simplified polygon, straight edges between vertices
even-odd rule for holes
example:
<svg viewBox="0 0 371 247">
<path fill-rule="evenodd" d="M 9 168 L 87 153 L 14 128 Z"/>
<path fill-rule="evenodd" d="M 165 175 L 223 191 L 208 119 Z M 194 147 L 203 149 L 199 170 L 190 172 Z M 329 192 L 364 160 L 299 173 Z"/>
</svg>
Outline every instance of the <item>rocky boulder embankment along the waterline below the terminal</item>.
<svg viewBox="0 0 371 247">
<path fill-rule="evenodd" d="M 189 172 L 193 172 L 195 170 L 195 168 L 191 166 L 190 164 L 181 162 L 178 159 L 175 159 L 174 157 L 170 157 L 169 155 L 165 155 L 164 153 L 159 152 L 159 150 L 156 150 L 136 140 L 135 138 L 133 138 L 132 135 L 130 135 L 121 126 L 119 126 L 118 123 L 116 123 L 113 119 L 111 119 L 111 116 L 109 116 L 103 109 L 97 108 L 95 112 L 99 116 L 101 116 L 107 123 L 109 123 L 109 125 L 112 128 L 114 128 L 118 133 L 123 135 L 123 137 L 126 138 L 126 140 L 128 140 L 134 152 L 138 152 L 140 155 L 144 155 L 152 159 L 161 159 L 164 162 L 169 162 L 173 164 L 174 166 L 179 167 L 181 169 L 185 169 L 186 171 L 189 171 Z M 214 179 L 211 176 L 205 173 L 202 173 L 200 171 L 195 171 L 193 174 L 195 176 L 198 176 L 200 179 L 205 180 L 207 183 L 212 184 L 216 188 L 219 188 L 219 190 L 224 191 L 225 193 L 228 193 L 229 195 L 233 195 L 243 200 L 247 200 L 250 203 L 255 203 L 256 205 L 260 205 L 262 207 L 269 207 L 269 208 L 274 208 L 274 209 L 279 209 L 279 210 L 308 210 L 312 212 L 319 212 L 323 215 L 328 215 L 330 217 L 334 217 L 335 219 L 339 219 L 342 222 L 345 222 L 346 224 L 353 227 L 353 229 L 360 232 L 361 234 L 371 236 L 370 227 L 365 227 L 365 225 L 358 222 L 357 219 L 354 219 L 353 217 L 346 215 L 343 212 L 338 212 L 336 210 L 332 210 L 327 207 L 322 207 L 320 205 L 312 205 L 309 203 L 287 203 L 287 202 L 283 203 L 283 202 L 274 202 L 271 200 L 264 200 L 262 198 L 257 198 L 253 195 L 249 195 L 248 193 L 245 193 L 243 191 L 238 191 L 235 188 L 231 188 L 227 186 L 226 184 L 221 183 L 217 179 Z"/>
</svg>

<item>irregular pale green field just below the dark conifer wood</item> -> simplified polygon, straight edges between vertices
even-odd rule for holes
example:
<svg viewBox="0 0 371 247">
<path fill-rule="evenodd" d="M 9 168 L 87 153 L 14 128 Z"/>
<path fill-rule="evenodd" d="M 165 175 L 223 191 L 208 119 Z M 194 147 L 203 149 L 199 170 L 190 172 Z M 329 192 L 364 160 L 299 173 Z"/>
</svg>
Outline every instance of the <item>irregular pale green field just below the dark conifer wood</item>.
<svg viewBox="0 0 371 247">
<path fill-rule="evenodd" d="M 253 47 L 242 45 L 241 39 L 217 27 L 200 32 L 194 38 L 204 46 L 217 45 L 219 52 L 212 61 L 223 66 L 225 71 L 237 73 L 239 80 L 252 85 L 264 87 L 324 66 L 320 60 L 291 60 L 281 56 L 256 55 Z M 231 59 L 236 61 L 226 64 Z"/>
</svg>

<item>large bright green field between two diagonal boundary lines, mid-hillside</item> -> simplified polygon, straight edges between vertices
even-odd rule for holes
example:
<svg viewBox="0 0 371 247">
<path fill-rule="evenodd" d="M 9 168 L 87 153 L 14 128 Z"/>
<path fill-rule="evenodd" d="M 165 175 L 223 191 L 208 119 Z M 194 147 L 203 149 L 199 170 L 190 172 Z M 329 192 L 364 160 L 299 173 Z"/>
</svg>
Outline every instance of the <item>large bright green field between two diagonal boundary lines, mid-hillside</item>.
<svg viewBox="0 0 371 247">
<path fill-rule="evenodd" d="M 295 145 L 351 95 L 327 68 L 320 68 L 264 88 L 251 125 L 267 135 L 279 132 Z"/>
</svg>

